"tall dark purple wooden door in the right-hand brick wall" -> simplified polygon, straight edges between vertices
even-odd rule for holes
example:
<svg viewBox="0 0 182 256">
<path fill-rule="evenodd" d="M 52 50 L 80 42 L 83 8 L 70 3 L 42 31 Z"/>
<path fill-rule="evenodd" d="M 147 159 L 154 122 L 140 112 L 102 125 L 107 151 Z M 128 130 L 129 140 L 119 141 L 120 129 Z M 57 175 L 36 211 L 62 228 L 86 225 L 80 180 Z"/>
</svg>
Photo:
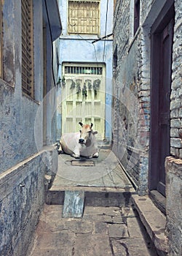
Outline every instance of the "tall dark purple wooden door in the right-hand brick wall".
<svg viewBox="0 0 182 256">
<path fill-rule="evenodd" d="M 165 157 L 170 155 L 170 91 L 174 4 L 167 1 L 151 27 L 150 190 L 165 195 Z"/>
</svg>

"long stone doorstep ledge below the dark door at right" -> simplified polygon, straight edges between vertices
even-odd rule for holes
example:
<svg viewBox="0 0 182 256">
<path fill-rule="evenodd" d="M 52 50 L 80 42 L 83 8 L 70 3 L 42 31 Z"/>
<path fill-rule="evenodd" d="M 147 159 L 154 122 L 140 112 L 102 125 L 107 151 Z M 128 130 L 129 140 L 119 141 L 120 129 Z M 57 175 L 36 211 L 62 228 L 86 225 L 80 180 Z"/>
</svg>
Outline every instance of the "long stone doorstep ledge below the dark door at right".
<svg viewBox="0 0 182 256">
<path fill-rule="evenodd" d="M 132 195 L 132 201 L 141 222 L 146 227 L 147 233 L 156 246 L 159 255 L 166 255 L 168 252 L 167 237 L 165 236 L 166 218 L 161 211 L 152 203 L 149 196 Z"/>
</svg>

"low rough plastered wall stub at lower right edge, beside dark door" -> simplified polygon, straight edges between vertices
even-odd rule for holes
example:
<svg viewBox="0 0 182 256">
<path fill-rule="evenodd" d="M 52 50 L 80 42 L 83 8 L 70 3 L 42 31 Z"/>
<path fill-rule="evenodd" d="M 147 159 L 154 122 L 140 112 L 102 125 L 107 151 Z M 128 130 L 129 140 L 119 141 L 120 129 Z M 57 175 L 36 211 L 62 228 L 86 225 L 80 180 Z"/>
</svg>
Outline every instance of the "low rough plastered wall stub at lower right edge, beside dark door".
<svg viewBox="0 0 182 256">
<path fill-rule="evenodd" d="M 166 233 L 169 256 L 182 254 L 182 159 L 167 157 L 166 168 Z"/>
</svg>

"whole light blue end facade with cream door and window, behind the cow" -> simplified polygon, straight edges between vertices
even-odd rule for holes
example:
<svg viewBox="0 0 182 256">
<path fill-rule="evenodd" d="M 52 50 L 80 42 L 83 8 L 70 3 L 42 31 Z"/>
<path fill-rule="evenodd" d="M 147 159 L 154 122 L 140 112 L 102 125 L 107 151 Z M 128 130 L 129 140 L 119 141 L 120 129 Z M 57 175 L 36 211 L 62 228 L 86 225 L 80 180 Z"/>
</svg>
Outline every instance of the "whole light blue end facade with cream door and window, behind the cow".
<svg viewBox="0 0 182 256">
<path fill-rule="evenodd" d="M 60 1 L 60 89 L 57 138 L 94 124 L 111 144 L 113 1 Z"/>
</svg>

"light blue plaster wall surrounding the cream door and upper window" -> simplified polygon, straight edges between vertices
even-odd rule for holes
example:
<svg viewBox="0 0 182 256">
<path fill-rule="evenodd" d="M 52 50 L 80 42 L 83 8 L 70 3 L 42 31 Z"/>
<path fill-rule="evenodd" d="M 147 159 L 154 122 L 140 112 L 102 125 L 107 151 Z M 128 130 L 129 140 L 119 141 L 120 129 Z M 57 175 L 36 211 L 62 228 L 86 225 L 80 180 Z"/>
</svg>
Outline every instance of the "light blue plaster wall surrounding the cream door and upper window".
<svg viewBox="0 0 182 256">
<path fill-rule="evenodd" d="M 98 39 L 92 34 L 77 35 L 67 34 L 67 7 L 68 1 L 64 0 L 60 3 L 60 16 L 63 25 L 63 33 L 60 36 L 60 78 L 61 78 L 61 64 L 64 61 L 68 62 L 83 62 L 83 63 L 104 63 L 106 64 L 106 139 L 111 141 L 111 95 L 112 95 L 112 38 L 92 41 Z M 108 1 L 108 18 L 106 26 L 106 9 L 107 1 L 100 1 L 100 37 L 112 33 L 113 23 L 113 1 Z M 105 31 L 106 29 L 106 31 Z M 105 56 L 103 57 L 103 48 L 105 44 Z M 58 91 L 58 99 L 60 99 L 61 92 Z M 61 101 L 61 99 L 60 99 Z M 57 136 L 58 140 L 61 135 L 61 114 L 58 114 Z"/>
</svg>

